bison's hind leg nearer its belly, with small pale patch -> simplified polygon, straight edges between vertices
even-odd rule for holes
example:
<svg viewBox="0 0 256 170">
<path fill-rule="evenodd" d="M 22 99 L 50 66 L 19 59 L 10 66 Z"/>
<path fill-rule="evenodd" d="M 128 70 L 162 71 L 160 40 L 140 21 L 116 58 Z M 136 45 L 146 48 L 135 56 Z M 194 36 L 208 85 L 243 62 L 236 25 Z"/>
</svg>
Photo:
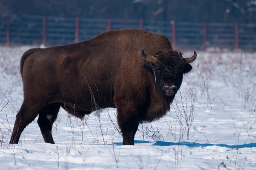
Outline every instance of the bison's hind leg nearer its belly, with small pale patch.
<svg viewBox="0 0 256 170">
<path fill-rule="evenodd" d="M 44 142 L 55 144 L 52 138 L 52 124 L 56 120 L 60 105 L 53 103 L 39 111 L 38 125 L 40 127 Z"/>
</svg>

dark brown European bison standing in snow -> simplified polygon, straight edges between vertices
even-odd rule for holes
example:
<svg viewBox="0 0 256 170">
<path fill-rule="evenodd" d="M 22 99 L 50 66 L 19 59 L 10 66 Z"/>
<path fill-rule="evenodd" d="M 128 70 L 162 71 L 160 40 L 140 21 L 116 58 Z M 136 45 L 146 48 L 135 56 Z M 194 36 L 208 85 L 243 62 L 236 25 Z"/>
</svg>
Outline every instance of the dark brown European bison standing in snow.
<svg viewBox="0 0 256 170">
<path fill-rule="evenodd" d="M 183 58 L 166 36 L 140 29 L 108 31 L 71 45 L 32 48 L 20 60 L 24 101 L 10 144 L 18 143 L 38 114 L 44 141 L 54 144 L 52 123 L 62 107 L 81 119 L 99 108 L 116 108 L 123 145 L 134 145 L 139 123 L 169 111 L 196 56 L 194 51 L 191 58 Z"/>
</svg>

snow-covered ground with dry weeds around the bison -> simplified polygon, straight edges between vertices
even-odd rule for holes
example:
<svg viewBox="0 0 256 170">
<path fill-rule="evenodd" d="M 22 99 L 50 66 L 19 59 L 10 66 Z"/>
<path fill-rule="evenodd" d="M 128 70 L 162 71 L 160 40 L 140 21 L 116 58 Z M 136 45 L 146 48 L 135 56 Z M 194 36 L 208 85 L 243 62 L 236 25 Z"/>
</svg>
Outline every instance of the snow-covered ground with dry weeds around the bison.
<svg viewBox="0 0 256 170">
<path fill-rule="evenodd" d="M 140 125 L 134 146 L 122 146 L 113 108 L 84 121 L 61 109 L 56 144 L 44 142 L 36 118 L 9 145 L 23 101 L 20 57 L 29 48 L 0 48 L 0 170 L 256 169 L 256 54 L 197 51 L 171 111 Z"/>
</svg>

